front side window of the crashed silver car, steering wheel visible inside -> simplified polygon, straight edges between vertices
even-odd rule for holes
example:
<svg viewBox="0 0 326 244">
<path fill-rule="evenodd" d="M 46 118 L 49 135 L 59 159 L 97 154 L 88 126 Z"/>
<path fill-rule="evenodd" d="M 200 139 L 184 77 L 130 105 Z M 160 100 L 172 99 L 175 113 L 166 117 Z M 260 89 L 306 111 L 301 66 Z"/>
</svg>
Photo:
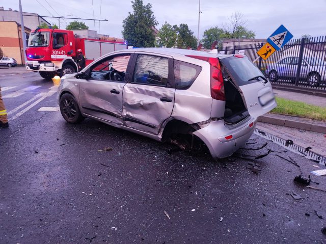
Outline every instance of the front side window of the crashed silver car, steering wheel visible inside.
<svg viewBox="0 0 326 244">
<path fill-rule="evenodd" d="M 129 60 L 130 53 L 102 59 L 91 67 L 90 79 L 124 82 Z"/>
</svg>

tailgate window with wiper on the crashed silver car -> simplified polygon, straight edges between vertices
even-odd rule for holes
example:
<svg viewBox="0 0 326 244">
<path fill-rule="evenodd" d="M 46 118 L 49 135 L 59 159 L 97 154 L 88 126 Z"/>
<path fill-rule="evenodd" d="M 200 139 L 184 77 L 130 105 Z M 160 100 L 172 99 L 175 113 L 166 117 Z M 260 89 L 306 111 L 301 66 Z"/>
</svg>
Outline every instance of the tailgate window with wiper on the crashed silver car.
<svg viewBox="0 0 326 244">
<path fill-rule="evenodd" d="M 221 63 L 226 67 L 230 75 L 235 79 L 238 86 L 255 83 L 258 80 L 249 80 L 256 76 L 263 76 L 263 73 L 247 57 L 229 57 L 221 59 Z"/>
</svg>

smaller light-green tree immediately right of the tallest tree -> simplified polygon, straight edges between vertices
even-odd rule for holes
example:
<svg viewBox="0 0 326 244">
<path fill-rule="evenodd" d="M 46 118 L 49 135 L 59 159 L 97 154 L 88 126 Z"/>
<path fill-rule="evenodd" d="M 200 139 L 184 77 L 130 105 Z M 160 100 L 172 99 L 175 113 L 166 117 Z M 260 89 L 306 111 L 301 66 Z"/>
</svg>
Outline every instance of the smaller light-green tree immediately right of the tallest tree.
<svg viewBox="0 0 326 244">
<path fill-rule="evenodd" d="M 159 29 L 157 37 L 159 38 L 156 43 L 157 47 L 175 47 L 177 44 L 178 26 L 172 26 L 165 22 L 165 24 Z"/>
</svg>

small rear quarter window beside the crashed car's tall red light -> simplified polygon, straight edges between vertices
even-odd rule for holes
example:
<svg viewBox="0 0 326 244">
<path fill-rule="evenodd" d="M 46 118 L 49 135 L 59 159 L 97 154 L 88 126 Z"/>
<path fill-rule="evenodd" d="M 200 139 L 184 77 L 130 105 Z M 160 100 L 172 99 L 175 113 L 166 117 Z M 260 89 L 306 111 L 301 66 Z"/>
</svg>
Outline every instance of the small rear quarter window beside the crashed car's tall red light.
<svg viewBox="0 0 326 244">
<path fill-rule="evenodd" d="M 186 90 L 193 85 L 202 67 L 174 60 L 174 79 L 176 89 Z"/>
</svg>

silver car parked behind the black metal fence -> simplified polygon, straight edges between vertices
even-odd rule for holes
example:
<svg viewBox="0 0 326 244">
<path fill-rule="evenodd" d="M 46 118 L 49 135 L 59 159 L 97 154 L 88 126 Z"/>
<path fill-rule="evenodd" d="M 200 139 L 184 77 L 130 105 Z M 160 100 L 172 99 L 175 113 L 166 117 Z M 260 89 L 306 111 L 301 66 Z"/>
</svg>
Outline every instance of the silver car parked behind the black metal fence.
<svg viewBox="0 0 326 244">
<path fill-rule="evenodd" d="M 265 73 L 268 74 L 271 82 L 290 79 L 294 83 L 298 60 L 298 57 L 287 57 L 275 64 L 268 65 Z M 309 86 L 319 86 L 326 80 L 326 62 L 318 58 L 303 58 L 299 77 Z"/>
</svg>

